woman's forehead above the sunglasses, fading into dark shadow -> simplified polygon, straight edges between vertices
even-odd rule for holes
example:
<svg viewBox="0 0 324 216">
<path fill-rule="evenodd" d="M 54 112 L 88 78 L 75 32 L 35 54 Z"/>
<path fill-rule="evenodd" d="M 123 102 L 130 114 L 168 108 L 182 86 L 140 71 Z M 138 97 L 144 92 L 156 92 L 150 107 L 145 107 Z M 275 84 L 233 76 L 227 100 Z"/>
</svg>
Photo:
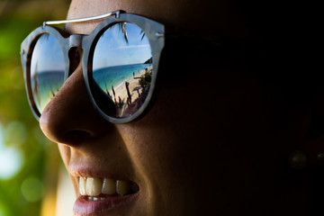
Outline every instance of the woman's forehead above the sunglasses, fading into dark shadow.
<svg viewBox="0 0 324 216">
<path fill-rule="evenodd" d="M 235 36 L 247 34 L 245 26 L 223 0 L 72 0 L 67 19 L 82 18 L 112 11 L 147 16 L 160 23 L 186 29 L 219 31 Z M 71 33 L 89 34 L 101 21 L 67 25 Z"/>
</svg>

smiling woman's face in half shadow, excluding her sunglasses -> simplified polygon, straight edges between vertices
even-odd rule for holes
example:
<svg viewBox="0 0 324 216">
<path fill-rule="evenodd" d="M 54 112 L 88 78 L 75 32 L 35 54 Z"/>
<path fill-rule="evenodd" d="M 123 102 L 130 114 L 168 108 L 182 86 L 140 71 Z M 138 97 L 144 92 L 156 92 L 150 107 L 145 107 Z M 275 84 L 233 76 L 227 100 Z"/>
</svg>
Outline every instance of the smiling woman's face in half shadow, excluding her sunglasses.
<svg viewBox="0 0 324 216">
<path fill-rule="evenodd" d="M 174 2 L 72 1 L 68 18 L 123 9 L 186 25 L 193 8 L 185 1 Z M 227 14 L 215 10 L 219 17 Z M 221 31 L 238 34 L 217 22 Z M 98 23 L 69 24 L 67 31 L 89 33 Z M 208 23 L 197 28 L 206 28 L 203 25 Z M 203 62 L 177 62 L 193 67 L 181 71 L 183 79 L 162 83 L 156 103 L 143 118 L 117 125 L 94 111 L 82 67 L 76 68 L 40 118 L 41 130 L 58 143 L 75 187 L 76 215 L 221 214 L 242 203 L 260 206 L 263 202 L 255 197 L 275 193 L 275 168 L 268 158 L 279 153 L 272 145 L 275 136 L 265 132 L 269 125 L 261 86 L 237 68 Z M 172 71 L 172 64 L 164 69 Z M 101 192 L 103 182 L 108 186 Z M 261 183 L 267 184 L 262 192 L 256 189 Z M 118 194 L 107 195 L 114 190 Z"/>
</svg>

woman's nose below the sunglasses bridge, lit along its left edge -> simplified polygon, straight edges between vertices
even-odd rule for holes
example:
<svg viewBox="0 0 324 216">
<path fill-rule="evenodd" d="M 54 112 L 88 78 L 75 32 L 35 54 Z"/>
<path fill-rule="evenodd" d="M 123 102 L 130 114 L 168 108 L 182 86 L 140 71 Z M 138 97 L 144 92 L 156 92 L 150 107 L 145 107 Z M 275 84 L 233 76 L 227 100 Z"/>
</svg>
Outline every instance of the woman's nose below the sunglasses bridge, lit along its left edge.
<svg viewBox="0 0 324 216">
<path fill-rule="evenodd" d="M 89 100 L 81 64 L 67 78 L 40 116 L 40 129 L 52 141 L 76 145 L 103 135 L 112 124 Z"/>
</svg>

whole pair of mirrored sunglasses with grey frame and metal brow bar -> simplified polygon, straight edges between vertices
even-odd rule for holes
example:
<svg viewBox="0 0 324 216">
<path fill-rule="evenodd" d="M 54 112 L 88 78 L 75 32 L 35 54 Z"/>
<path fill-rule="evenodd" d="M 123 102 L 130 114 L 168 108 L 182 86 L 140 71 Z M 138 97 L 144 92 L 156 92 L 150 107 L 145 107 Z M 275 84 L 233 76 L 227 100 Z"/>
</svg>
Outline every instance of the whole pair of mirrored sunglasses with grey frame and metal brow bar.
<svg viewBox="0 0 324 216">
<path fill-rule="evenodd" d="M 52 26 L 100 19 L 103 22 L 89 35 L 69 34 Z M 94 109 L 112 123 L 138 119 L 152 102 L 167 39 L 184 38 L 177 32 L 168 33 L 164 24 L 123 11 L 43 23 L 23 40 L 21 47 L 31 111 L 39 120 L 76 69 L 77 59 L 82 59 L 85 86 Z M 187 38 L 192 41 L 195 37 Z M 189 44 L 193 46 L 193 42 Z M 212 44 L 219 50 L 224 48 L 219 40 L 212 40 Z"/>
</svg>

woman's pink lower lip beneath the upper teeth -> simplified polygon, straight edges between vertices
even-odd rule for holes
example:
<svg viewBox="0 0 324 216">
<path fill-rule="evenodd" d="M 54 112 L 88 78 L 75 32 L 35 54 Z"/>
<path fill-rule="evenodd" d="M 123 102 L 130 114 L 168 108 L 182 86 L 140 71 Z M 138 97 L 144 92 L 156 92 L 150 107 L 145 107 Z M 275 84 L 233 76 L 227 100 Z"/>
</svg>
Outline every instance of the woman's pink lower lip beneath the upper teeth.
<svg viewBox="0 0 324 216">
<path fill-rule="evenodd" d="M 130 195 L 106 195 L 105 200 L 88 201 L 87 196 L 77 198 L 73 211 L 75 215 L 105 215 L 109 211 L 118 211 L 126 207 L 136 198 L 136 193 Z"/>
</svg>

